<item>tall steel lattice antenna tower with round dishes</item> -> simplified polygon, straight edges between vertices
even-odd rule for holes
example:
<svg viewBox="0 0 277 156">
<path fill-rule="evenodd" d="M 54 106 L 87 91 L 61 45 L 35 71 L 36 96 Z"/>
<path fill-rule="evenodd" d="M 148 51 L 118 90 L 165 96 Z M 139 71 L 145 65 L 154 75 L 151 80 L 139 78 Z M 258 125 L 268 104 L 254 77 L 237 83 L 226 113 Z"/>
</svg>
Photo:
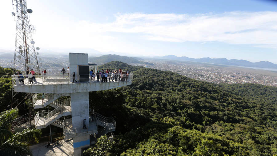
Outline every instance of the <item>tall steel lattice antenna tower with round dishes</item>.
<svg viewBox="0 0 277 156">
<path fill-rule="evenodd" d="M 33 12 L 31 9 L 27 9 L 26 0 L 12 0 L 13 9 L 15 7 L 16 12 L 12 12 L 16 21 L 16 35 L 15 35 L 15 48 L 14 48 L 14 72 L 17 70 L 26 72 L 27 69 L 34 69 L 39 72 L 39 65 L 37 54 L 34 47 L 34 40 L 32 33 L 35 31 L 35 27 L 29 24 L 30 14 Z M 39 72 L 40 73 L 40 72 Z M 22 73 L 23 74 L 23 73 Z M 20 93 L 20 94 L 19 94 Z M 21 107 L 25 111 L 27 110 L 25 100 L 31 99 L 30 93 L 12 92 L 12 104 L 13 107 Z M 28 107 L 29 108 L 29 107 Z M 29 115 L 30 108 L 29 108 Z"/>
</svg>

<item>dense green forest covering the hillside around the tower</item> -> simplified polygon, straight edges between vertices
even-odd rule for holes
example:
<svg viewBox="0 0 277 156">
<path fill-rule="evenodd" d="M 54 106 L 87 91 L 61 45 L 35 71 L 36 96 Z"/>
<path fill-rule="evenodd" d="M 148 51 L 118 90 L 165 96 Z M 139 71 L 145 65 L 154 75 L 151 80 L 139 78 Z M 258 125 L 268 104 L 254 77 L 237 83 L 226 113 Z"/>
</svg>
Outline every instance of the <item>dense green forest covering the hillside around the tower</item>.
<svg viewBox="0 0 277 156">
<path fill-rule="evenodd" d="M 224 156 L 277 154 L 277 88 L 212 84 L 173 72 L 112 61 L 131 85 L 90 92 L 90 107 L 117 122 L 86 155 Z M 0 68 L 1 112 L 10 105 L 11 69 Z M 3 72 L 4 71 L 4 72 Z"/>
</svg>

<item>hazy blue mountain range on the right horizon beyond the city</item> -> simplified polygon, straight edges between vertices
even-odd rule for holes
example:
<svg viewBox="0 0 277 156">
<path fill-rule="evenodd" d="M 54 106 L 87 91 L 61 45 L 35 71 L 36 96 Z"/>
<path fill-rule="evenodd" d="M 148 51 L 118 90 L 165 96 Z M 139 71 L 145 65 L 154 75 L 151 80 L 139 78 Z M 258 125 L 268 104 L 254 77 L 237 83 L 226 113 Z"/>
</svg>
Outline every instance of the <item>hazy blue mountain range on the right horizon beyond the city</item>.
<svg viewBox="0 0 277 156">
<path fill-rule="evenodd" d="M 155 58 L 167 59 L 167 60 L 180 60 L 180 61 L 194 61 L 194 62 L 203 62 L 203 63 L 224 64 L 224 65 L 233 65 L 233 66 L 244 66 L 244 67 L 277 69 L 277 64 L 273 64 L 269 61 L 250 62 L 247 60 L 236 60 L 236 59 L 227 60 L 226 58 L 211 59 L 210 57 L 194 59 L 194 58 L 189 58 L 186 56 L 178 57 L 175 55 L 155 56 Z"/>
</svg>

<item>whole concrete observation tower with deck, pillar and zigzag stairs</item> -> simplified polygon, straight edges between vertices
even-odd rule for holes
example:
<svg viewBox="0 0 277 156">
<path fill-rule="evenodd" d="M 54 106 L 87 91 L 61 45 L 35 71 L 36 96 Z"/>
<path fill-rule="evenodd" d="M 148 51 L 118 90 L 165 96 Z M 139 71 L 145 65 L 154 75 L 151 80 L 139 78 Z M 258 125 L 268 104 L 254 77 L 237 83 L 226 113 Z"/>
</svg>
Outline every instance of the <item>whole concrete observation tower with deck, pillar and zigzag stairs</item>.
<svg viewBox="0 0 277 156">
<path fill-rule="evenodd" d="M 32 95 L 35 110 L 44 109 L 34 117 L 35 128 L 43 129 L 48 125 L 62 128 L 65 140 L 73 138 L 74 155 L 79 156 L 83 148 L 90 146 L 92 138 L 97 139 L 116 128 L 113 117 L 104 117 L 89 110 L 89 92 L 130 85 L 133 75 L 128 73 L 118 81 L 109 80 L 108 76 L 106 82 L 97 81 L 95 75 L 95 80 L 90 80 L 90 69 L 95 72 L 98 66 L 89 64 L 88 54 L 83 53 L 69 53 L 69 67 L 70 70 L 65 68 L 65 72 L 46 69 L 47 73 L 43 74 L 40 70 L 35 71 L 36 81 L 33 84 L 29 83 L 30 76 L 27 77 L 26 71 L 21 71 L 24 78 L 15 74 L 12 81 L 15 92 Z M 76 81 L 73 82 L 74 78 Z"/>
</svg>

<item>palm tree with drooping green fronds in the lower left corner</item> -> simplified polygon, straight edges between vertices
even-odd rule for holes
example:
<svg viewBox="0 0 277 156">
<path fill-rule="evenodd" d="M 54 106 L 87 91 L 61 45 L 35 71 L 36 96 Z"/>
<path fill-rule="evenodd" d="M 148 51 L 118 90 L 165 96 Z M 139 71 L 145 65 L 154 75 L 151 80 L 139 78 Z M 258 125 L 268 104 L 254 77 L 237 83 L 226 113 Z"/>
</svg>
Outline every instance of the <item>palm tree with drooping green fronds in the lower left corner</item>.
<svg viewBox="0 0 277 156">
<path fill-rule="evenodd" d="M 32 155 L 28 142 L 30 140 L 38 142 L 41 136 L 40 129 L 25 129 L 13 134 L 10 128 L 17 116 L 17 108 L 0 113 L 0 155 Z"/>
</svg>

